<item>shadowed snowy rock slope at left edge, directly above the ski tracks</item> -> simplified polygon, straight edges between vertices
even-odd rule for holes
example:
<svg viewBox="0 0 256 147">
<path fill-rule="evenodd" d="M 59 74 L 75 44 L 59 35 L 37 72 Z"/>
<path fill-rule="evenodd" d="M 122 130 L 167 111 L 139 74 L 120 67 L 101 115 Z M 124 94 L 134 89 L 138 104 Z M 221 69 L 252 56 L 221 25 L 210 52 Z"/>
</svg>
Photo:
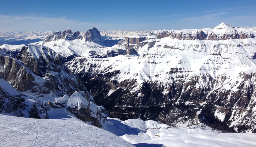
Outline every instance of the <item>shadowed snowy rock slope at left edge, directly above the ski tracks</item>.
<svg viewBox="0 0 256 147">
<path fill-rule="evenodd" d="M 45 102 L 31 101 L 31 96 L 22 94 L 0 76 L 0 113 L 14 116 L 48 119 L 49 106 Z"/>
</svg>

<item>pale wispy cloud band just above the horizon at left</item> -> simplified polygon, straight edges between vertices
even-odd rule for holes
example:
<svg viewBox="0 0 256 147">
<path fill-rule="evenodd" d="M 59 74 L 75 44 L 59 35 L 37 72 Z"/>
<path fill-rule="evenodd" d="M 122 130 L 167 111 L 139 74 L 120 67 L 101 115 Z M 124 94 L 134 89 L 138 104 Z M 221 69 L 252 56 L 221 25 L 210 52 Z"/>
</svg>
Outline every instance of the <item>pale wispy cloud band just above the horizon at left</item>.
<svg viewBox="0 0 256 147">
<path fill-rule="evenodd" d="M 70 28 L 72 31 L 86 31 L 91 27 L 98 29 L 118 28 L 119 22 L 115 23 L 95 23 L 69 20 L 67 18 L 50 17 L 30 17 L 30 16 L 11 16 L 0 15 L 0 31 L 35 31 L 51 30 L 62 31 Z"/>
</svg>

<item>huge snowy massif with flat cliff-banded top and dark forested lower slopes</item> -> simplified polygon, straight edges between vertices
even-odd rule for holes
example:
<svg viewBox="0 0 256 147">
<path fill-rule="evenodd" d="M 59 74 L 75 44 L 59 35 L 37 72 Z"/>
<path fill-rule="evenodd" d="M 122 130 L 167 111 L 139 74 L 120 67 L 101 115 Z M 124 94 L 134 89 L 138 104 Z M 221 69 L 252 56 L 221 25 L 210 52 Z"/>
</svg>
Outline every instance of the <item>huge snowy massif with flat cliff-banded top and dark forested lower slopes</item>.
<svg viewBox="0 0 256 147">
<path fill-rule="evenodd" d="M 152 31 L 114 46 L 136 54 L 76 57 L 65 65 L 112 117 L 175 125 L 193 123 L 202 111 L 208 125 L 255 132 L 255 36 L 226 23 Z"/>
</svg>

